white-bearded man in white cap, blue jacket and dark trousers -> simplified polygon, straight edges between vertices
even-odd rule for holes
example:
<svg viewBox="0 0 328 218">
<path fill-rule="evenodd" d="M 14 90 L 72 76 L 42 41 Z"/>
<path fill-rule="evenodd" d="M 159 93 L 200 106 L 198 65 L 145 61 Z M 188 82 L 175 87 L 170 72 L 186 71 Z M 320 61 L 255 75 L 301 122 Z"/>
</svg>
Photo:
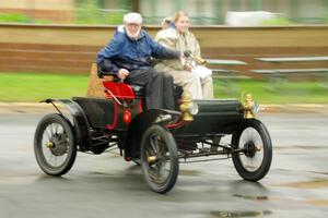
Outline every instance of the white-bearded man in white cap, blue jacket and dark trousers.
<svg viewBox="0 0 328 218">
<path fill-rule="evenodd" d="M 161 46 L 141 29 L 142 17 L 139 13 L 126 14 L 124 23 L 109 44 L 98 52 L 98 68 L 116 73 L 128 84 L 145 86 L 148 109 L 174 109 L 173 77 L 154 70 L 151 57 L 178 59 L 180 52 Z"/>
</svg>

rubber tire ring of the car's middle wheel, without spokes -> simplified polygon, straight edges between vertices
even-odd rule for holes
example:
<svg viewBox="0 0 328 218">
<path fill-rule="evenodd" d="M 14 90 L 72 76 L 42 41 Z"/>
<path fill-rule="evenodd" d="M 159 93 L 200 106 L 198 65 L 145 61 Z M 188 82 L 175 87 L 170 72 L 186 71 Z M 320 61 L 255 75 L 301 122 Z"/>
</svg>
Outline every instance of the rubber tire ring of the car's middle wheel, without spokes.
<svg viewBox="0 0 328 218">
<path fill-rule="evenodd" d="M 159 134 L 165 142 L 166 146 L 167 146 L 167 150 L 169 153 L 169 157 L 171 157 L 171 169 L 169 169 L 169 173 L 167 177 L 166 182 L 162 185 L 162 186 L 157 186 L 155 183 L 153 183 L 150 179 L 149 175 L 149 171 L 147 168 L 148 165 L 148 160 L 147 157 L 144 155 L 144 150 L 147 148 L 147 144 L 145 142 L 148 141 L 148 137 L 150 135 L 152 135 L 153 133 Z M 143 177 L 148 183 L 148 185 L 151 187 L 152 191 L 156 192 L 156 193 L 161 193 L 164 194 L 168 191 L 171 191 L 173 189 L 173 186 L 175 185 L 176 181 L 177 181 L 177 177 L 178 177 L 178 171 L 179 171 L 179 160 L 178 160 L 178 153 L 177 153 L 177 146 L 176 146 L 176 142 L 173 137 L 173 135 L 171 134 L 171 132 L 168 130 L 166 130 L 165 128 L 161 126 L 161 125 L 151 125 L 143 134 L 142 140 L 141 140 L 141 146 L 140 146 L 140 164 L 141 164 L 141 168 L 143 171 Z"/>
</svg>

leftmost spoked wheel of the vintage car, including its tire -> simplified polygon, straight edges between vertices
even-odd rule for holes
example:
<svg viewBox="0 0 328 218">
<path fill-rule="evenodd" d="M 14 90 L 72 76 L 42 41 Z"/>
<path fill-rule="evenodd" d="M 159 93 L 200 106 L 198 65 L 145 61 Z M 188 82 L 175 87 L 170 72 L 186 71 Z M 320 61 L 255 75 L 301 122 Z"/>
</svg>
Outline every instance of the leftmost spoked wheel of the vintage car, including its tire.
<svg viewBox="0 0 328 218">
<path fill-rule="evenodd" d="M 44 117 L 35 131 L 34 154 L 45 173 L 67 173 L 77 157 L 73 128 L 69 121 L 57 113 Z"/>
</svg>

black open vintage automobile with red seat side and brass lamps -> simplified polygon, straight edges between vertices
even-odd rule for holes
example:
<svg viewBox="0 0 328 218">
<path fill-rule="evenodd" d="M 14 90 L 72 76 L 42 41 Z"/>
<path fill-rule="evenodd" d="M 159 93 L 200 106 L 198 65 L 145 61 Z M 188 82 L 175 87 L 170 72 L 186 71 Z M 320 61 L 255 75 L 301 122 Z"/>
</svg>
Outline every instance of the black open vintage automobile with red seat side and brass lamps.
<svg viewBox="0 0 328 218">
<path fill-rule="evenodd" d="M 35 132 L 35 157 L 45 173 L 67 173 L 77 152 L 97 155 L 114 146 L 125 160 L 141 165 L 147 183 L 157 193 L 175 185 L 179 161 L 232 158 L 248 181 L 269 171 L 270 135 L 255 119 L 256 104 L 249 94 L 241 102 L 192 100 L 188 93 L 177 92 L 176 110 L 148 110 L 143 87 L 117 81 L 103 85 L 106 98 L 44 100 L 58 111 L 44 117 Z M 231 143 L 222 143 L 226 135 L 232 135 Z"/>
</svg>

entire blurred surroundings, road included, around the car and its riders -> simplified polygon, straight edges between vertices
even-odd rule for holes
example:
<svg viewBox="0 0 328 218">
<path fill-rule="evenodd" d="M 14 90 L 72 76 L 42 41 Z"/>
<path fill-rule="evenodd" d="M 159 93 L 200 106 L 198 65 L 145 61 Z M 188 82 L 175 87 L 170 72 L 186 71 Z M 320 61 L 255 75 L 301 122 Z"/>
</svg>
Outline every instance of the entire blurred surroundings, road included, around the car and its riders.
<svg viewBox="0 0 328 218">
<path fill-rule="evenodd" d="M 155 36 L 178 10 L 215 97 L 251 93 L 267 108 L 268 177 L 241 181 L 231 161 L 180 165 L 175 191 L 159 196 L 112 149 L 79 154 L 66 177 L 40 173 L 33 135 L 56 111 L 38 101 L 86 95 L 125 13 L 140 12 Z M 0 0 L 0 217 L 328 217 L 327 24 L 328 0 Z"/>
</svg>

